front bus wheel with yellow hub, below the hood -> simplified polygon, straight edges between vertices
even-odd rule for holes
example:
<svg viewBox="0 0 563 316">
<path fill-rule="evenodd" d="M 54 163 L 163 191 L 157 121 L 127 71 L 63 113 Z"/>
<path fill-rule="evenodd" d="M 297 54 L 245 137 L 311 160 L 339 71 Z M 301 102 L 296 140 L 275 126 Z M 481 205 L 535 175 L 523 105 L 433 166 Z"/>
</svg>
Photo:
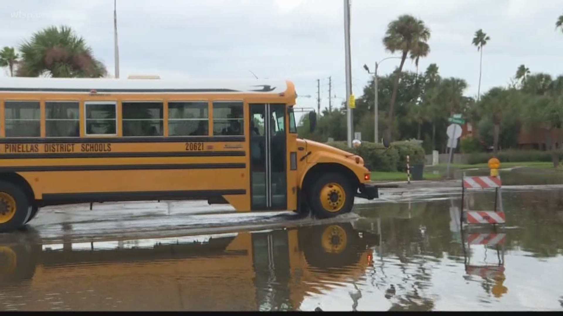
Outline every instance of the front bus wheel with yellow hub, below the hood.
<svg viewBox="0 0 563 316">
<path fill-rule="evenodd" d="M 321 175 L 309 192 L 309 205 L 318 218 L 348 213 L 354 206 L 354 189 L 348 179 L 339 173 Z"/>
</svg>

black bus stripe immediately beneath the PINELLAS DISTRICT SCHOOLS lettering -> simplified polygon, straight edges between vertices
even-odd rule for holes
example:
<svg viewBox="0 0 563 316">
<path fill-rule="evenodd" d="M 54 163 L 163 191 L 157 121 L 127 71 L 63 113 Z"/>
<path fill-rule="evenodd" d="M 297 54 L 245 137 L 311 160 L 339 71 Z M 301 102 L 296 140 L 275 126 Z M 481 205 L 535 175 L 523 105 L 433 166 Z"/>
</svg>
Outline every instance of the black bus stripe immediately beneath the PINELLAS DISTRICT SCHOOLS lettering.
<svg viewBox="0 0 563 316">
<path fill-rule="evenodd" d="M 0 159 L 59 158 L 136 158 L 136 157 L 240 157 L 244 151 L 180 151 L 180 152 L 61 152 L 33 154 L 0 154 Z"/>
</svg>

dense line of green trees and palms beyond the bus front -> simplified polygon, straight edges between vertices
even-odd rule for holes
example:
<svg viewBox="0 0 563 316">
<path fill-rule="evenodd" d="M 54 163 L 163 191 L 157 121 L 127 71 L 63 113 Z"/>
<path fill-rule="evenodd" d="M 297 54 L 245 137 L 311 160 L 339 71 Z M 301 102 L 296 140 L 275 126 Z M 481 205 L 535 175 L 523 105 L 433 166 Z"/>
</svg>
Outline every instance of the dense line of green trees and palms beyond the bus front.
<svg viewBox="0 0 563 316">
<path fill-rule="evenodd" d="M 563 32 L 563 15 L 556 20 L 556 29 Z M 563 75 L 531 73 L 525 65 L 516 69 L 510 84 L 493 87 L 481 95 L 483 50 L 491 38 L 482 29 L 475 32 L 471 44 L 480 58 L 479 85 L 476 97 L 464 96 L 467 82 L 461 78 L 443 78 L 437 64 L 431 64 L 423 73 L 418 71 L 418 61 L 430 53 L 428 39 L 431 31 L 424 22 L 413 16 L 402 15 L 391 21 L 383 37 L 383 45 L 390 53 L 400 53 L 399 67 L 392 73 L 378 77 L 379 128 L 388 139 L 421 139 L 427 152 L 445 151 L 447 136 L 444 131 L 452 114 L 462 114 L 475 131 L 472 141 L 480 150 L 492 147 L 496 155 L 499 148 L 518 145 L 520 132 L 537 129 L 551 132 L 563 123 Z M 410 58 L 416 71 L 403 71 L 406 58 Z M 365 141 L 374 137 L 373 79 L 365 85 L 363 94 L 356 100 L 354 130 L 361 132 Z M 305 138 L 326 141 L 346 139 L 346 108 L 331 112 L 324 110 L 314 133 L 307 130 L 308 118 L 300 124 L 300 134 Z M 551 133 L 547 133 L 549 137 Z M 563 145 L 563 134 L 559 137 Z M 556 146 L 556 139 L 545 139 L 546 149 Z"/>
</svg>

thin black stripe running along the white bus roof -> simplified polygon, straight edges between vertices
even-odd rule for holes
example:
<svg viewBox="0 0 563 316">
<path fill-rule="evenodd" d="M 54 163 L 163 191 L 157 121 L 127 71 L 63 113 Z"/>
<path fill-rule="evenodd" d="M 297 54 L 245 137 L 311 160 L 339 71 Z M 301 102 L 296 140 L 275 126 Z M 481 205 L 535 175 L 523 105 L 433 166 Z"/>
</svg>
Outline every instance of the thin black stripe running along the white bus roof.
<svg viewBox="0 0 563 316">
<path fill-rule="evenodd" d="M 87 92 L 90 93 L 93 90 L 96 93 L 166 93 L 166 92 L 185 92 L 185 93 L 204 93 L 204 92 L 242 92 L 234 89 L 227 88 L 202 88 L 202 89 L 84 89 L 84 88 L 0 88 L 0 91 L 9 92 Z M 260 90 L 252 92 L 262 92 Z M 265 91 L 269 92 L 269 91 Z M 92 93 L 92 96 L 96 96 L 96 93 Z"/>
</svg>

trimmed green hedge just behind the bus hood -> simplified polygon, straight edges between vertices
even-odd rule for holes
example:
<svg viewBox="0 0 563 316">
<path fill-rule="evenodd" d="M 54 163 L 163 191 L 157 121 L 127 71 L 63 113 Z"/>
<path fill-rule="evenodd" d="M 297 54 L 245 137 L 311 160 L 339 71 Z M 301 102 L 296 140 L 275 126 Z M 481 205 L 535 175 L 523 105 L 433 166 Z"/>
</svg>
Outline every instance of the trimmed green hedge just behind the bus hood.
<svg viewBox="0 0 563 316">
<path fill-rule="evenodd" d="M 361 156 L 370 171 L 406 171 L 407 155 L 410 165 L 424 164 L 425 161 L 422 146 L 409 141 L 391 143 L 389 148 L 372 142 L 362 142 L 359 148 L 348 148 L 346 142 L 330 142 L 327 145 Z"/>
</svg>

